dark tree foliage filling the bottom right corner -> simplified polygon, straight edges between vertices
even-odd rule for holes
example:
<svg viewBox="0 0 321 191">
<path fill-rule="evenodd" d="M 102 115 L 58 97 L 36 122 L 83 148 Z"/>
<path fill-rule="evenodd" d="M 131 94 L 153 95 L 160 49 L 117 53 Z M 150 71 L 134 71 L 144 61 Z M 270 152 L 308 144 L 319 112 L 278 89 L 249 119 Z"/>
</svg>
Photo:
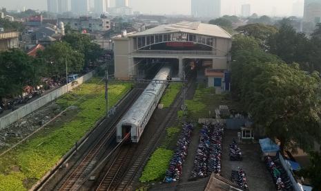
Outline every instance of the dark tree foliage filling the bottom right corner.
<svg viewBox="0 0 321 191">
<path fill-rule="evenodd" d="M 313 191 L 321 190 L 321 153 L 310 152 L 310 165 L 307 169 L 303 169 L 304 176 L 307 176 L 311 180 L 313 185 Z"/>
</svg>

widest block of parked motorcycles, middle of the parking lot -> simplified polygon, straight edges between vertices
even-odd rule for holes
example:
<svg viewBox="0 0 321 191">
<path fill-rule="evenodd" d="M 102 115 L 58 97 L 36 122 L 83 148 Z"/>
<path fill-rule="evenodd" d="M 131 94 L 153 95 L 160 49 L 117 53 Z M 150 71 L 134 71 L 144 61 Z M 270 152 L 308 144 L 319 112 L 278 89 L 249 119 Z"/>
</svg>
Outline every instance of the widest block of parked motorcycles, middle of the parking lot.
<svg viewBox="0 0 321 191">
<path fill-rule="evenodd" d="M 192 178 L 203 178 L 221 173 L 222 166 L 222 137 L 224 127 L 222 123 L 203 125 L 200 132 L 200 143 L 197 147 Z"/>
</svg>

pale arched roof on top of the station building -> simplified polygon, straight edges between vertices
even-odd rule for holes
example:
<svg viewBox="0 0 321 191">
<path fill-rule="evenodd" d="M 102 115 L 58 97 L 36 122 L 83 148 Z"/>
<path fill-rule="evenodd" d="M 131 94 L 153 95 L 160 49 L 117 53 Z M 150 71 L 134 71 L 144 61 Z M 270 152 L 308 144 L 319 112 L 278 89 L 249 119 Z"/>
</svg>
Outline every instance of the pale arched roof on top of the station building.
<svg viewBox="0 0 321 191">
<path fill-rule="evenodd" d="M 220 26 L 213 24 L 202 24 L 200 22 L 182 21 L 177 24 L 165 24 L 150 28 L 142 32 L 128 35 L 128 37 L 137 37 L 145 35 L 157 35 L 164 33 L 192 33 L 196 35 L 206 35 L 210 37 L 222 37 L 230 39 L 232 36 Z"/>
</svg>

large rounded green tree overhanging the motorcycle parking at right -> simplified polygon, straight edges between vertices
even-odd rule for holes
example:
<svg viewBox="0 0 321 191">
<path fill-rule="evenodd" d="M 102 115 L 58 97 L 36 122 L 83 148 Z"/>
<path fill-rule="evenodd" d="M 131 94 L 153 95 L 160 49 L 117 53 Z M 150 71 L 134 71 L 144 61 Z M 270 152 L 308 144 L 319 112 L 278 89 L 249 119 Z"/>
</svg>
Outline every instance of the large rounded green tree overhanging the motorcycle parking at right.
<svg viewBox="0 0 321 191">
<path fill-rule="evenodd" d="M 310 150 L 321 138 L 320 78 L 298 65 L 264 64 L 247 94 L 255 123 L 280 140 L 280 150 Z"/>
</svg>

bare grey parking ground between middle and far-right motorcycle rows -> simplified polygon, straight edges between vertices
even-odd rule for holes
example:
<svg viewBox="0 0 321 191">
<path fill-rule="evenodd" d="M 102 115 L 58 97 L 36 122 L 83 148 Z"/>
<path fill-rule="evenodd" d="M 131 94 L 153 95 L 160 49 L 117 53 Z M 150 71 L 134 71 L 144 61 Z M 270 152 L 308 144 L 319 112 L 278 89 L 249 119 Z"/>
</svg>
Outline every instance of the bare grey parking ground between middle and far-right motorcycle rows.
<svg viewBox="0 0 321 191">
<path fill-rule="evenodd" d="M 233 138 L 237 140 L 237 130 L 224 130 L 223 151 L 222 151 L 222 176 L 231 179 L 232 170 L 242 167 L 246 172 L 249 190 L 267 191 L 275 190 L 275 186 L 269 171 L 266 170 L 264 162 L 260 159 L 259 143 L 239 143 L 243 154 L 243 161 L 229 160 L 229 145 Z"/>
</svg>

